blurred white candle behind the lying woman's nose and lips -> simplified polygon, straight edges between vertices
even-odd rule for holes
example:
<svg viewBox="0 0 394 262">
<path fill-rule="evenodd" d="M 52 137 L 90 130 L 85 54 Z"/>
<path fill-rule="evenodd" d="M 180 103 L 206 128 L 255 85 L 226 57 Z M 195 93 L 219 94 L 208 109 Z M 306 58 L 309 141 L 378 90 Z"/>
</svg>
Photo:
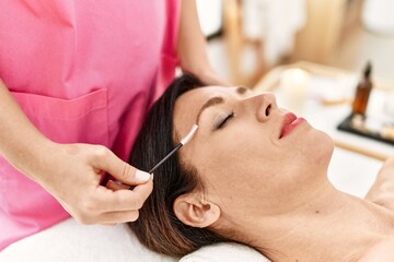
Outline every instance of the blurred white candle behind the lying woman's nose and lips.
<svg viewBox="0 0 394 262">
<path fill-rule="evenodd" d="M 281 107 L 296 114 L 303 114 L 311 76 L 302 69 L 287 69 L 280 76 Z"/>
</svg>

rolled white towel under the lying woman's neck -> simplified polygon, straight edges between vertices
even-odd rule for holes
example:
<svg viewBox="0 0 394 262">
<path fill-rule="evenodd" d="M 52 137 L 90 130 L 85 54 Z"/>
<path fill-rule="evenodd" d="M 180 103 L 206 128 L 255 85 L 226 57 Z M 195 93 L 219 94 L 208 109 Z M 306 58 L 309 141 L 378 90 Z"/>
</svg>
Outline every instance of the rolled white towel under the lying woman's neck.
<svg viewBox="0 0 394 262">
<path fill-rule="evenodd" d="M 269 262 L 256 250 L 239 243 L 218 243 L 204 247 L 179 262 Z"/>
</svg>

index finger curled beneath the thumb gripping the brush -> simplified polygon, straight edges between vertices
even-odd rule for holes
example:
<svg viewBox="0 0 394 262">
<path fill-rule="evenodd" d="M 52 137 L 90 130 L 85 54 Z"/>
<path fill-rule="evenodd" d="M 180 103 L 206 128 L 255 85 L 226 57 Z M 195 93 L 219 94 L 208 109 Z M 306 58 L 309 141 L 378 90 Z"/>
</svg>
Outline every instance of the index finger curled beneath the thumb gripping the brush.
<svg viewBox="0 0 394 262">
<path fill-rule="evenodd" d="M 153 181 L 139 184 L 135 190 L 112 191 L 107 188 L 100 188 L 97 203 L 103 213 L 115 211 L 132 211 L 142 207 L 153 189 Z"/>
</svg>

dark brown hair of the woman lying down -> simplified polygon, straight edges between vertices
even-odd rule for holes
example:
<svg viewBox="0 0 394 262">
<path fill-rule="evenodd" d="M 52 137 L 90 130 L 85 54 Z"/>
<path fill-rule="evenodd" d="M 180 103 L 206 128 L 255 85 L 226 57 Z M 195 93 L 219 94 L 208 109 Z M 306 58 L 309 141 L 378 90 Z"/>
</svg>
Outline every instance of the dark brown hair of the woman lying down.
<svg viewBox="0 0 394 262">
<path fill-rule="evenodd" d="M 173 110 L 182 94 L 204 84 L 192 75 L 173 81 L 165 93 L 154 103 L 135 142 L 129 163 L 150 170 L 175 146 L 173 138 Z M 208 228 L 195 228 L 183 224 L 173 211 L 178 195 L 204 190 L 196 168 L 181 163 L 176 154 L 154 172 L 152 194 L 148 198 L 135 223 L 129 223 L 138 239 L 159 253 L 181 257 L 202 246 L 229 241 Z"/>
</svg>

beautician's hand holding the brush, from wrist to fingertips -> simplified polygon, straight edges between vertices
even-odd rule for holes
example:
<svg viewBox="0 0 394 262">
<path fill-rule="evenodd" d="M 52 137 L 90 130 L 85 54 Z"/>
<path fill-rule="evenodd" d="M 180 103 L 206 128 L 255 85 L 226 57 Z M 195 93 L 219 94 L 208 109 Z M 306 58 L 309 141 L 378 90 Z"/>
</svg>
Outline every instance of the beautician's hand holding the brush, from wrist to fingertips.
<svg viewBox="0 0 394 262">
<path fill-rule="evenodd" d="M 108 148 L 90 144 L 55 144 L 48 157 L 46 174 L 38 179 L 79 222 L 115 224 L 138 218 L 138 210 L 152 192 L 149 174 L 119 159 Z M 101 175 L 111 174 L 125 184 L 137 186 L 132 191 L 112 190 L 100 186 Z M 111 184 L 113 184 L 112 182 Z"/>
</svg>

